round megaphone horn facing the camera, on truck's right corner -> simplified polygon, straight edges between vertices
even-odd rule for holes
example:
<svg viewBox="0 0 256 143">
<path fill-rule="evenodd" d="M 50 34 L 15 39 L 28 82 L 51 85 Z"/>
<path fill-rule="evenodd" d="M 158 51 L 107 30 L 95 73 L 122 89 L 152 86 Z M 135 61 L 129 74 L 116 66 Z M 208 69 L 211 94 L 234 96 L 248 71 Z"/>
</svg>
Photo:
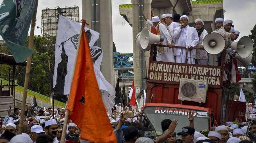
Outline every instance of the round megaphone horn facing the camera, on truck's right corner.
<svg viewBox="0 0 256 143">
<path fill-rule="evenodd" d="M 218 33 L 210 33 L 203 39 L 203 48 L 210 54 L 219 54 L 225 45 L 225 39 Z"/>
</svg>

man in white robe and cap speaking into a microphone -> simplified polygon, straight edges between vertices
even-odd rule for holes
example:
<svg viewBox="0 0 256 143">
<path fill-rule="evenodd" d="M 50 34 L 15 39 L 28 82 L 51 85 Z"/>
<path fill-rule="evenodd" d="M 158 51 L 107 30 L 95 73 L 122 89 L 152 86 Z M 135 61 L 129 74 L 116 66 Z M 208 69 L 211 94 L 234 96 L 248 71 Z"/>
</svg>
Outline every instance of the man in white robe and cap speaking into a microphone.
<svg viewBox="0 0 256 143">
<path fill-rule="evenodd" d="M 189 17 L 183 15 L 180 17 L 180 27 L 174 29 L 174 38 L 176 39 L 175 46 L 185 46 L 186 48 L 196 47 L 199 43 L 197 31 L 194 27 L 187 25 Z M 174 48 L 176 63 L 185 63 L 186 49 Z M 187 54 L 189 64 L 195 64 L 196 50 L 190 50 Z"/>
</svg>

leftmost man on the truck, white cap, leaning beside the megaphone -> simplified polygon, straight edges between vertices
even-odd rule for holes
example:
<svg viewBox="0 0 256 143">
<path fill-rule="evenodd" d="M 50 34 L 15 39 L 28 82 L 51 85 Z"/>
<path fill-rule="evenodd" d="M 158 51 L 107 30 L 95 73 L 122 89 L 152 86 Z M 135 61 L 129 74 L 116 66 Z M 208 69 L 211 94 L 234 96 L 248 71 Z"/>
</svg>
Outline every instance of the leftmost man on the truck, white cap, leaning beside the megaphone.
<svg viewBox="0 0 256 143">
<path fill-rule="evenodd" d="M 162 44 L 169 46 L 169 47 L 158 48 L 156 61 L 175 62 L 172 52 L 168 52 L 169 48 L 172 47 L 172 37 L 167 25 L 163 22 L 160 22 L 160 19 L 158 18 L 158 16 L 152 17 L 152 22 L 154 27 L 156 27 L 157 34 L 163 36 Z"/>
</svg>

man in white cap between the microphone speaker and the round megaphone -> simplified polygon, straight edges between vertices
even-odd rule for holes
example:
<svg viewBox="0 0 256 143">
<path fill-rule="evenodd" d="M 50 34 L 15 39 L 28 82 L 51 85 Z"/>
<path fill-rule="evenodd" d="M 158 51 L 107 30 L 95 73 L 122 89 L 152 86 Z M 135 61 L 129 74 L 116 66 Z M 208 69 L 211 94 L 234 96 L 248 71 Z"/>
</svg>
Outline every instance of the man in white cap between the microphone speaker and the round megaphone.
<svg viewBox="0 0 256 143">
<path fill-rule="evenodd" d="M 196 19 L 195 27 L 199 37 L 199 43 L 197 47 L 203 48 L 203 39 L 208 34 L 208 32 L 203 27 L 203 20 L 200 18 Z M 202 50 L 196 49 L 196 64 L 202 64 L 202 65 L 208 64 L 208 53 L 204 49 Z"/>
</svg>

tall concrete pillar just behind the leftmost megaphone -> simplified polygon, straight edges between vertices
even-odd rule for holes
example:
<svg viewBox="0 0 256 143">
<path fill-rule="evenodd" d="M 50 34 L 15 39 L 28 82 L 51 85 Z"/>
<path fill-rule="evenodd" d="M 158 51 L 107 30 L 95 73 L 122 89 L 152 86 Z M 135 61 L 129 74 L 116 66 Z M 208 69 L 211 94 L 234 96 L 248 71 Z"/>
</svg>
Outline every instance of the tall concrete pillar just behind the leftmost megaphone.
<svg viewBox="0 0 256 143">
<path fill-rule="evenodd" d="M 134 86 L 135 88 L 140 88 L 141 90 L 141 82 L 142 78 L 141 77 L 141 67 L 140 67 L 140 51 L 136 47 L 135 44 L 135 39 L 137 34 L 139 33 L 139 11 L 138 11 L 138 0 L 131 0 L 132 2 L 132 11 L 133 11 L 133 70 L 134 70 Z M 151 0 L 144 0 L 144 12 L 147 14 L 147 18 L 151 18 Z M 144 21 L 145 22 L 145 21 Z M 147 27 L 150 30 L 150 27 L 145 25 L 144 27 Z M 145 75 L 147 75 L 147 69 L 148 69 L 148 64 L 149 64 L 149 52 L 145 52 L 145 65 L 146 65 L 146 71 Z M 145 80 L 145 85 L 146 85 L 146 80 Z M 146 88 L 146 86 L 145 86 Z M 136 92 L 136 95 L 138 93 Z"/>
</svg>

